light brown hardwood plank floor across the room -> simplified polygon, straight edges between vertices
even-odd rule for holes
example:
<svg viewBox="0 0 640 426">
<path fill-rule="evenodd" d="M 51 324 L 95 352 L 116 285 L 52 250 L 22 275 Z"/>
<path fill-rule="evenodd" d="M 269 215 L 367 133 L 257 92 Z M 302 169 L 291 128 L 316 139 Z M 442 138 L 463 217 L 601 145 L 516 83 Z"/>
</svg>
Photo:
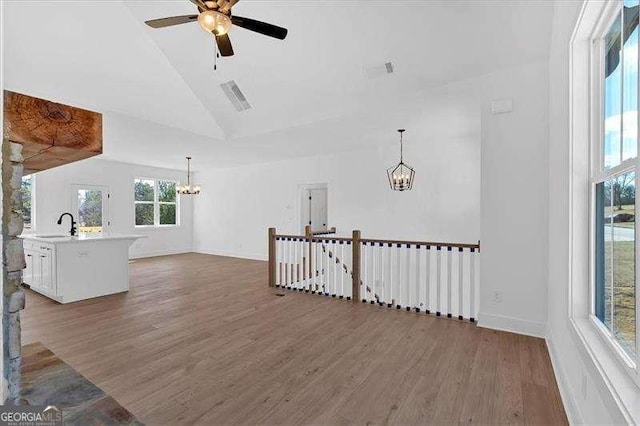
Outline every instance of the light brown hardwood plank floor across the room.
<svg viewBox="0 0 640 426">
<path fill-rule="evenodd" d="M 27 291 L 22 327 L 147 424 L 567 423 L 544 340 L 270 289 L 265 262 L 138 260 L 127 294 Z"/>
</svg>

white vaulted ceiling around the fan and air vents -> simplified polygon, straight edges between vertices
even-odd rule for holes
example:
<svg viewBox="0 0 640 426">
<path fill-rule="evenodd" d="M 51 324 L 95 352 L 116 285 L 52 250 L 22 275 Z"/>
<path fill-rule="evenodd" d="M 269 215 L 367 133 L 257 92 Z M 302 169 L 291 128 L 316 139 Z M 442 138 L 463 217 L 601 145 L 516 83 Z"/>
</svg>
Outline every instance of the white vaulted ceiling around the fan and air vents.
<svg viewBox="0 0 640 426">
<path fill-rule="evenodd" d="M 105 125 L 119 124 L 105 136 L 119 136 L 105 138 L 105 155 L 121 161 L 183 167 L 192 154 L 219 166 L 354 150 L 366 134 L 419 126 L 408 106 L 438 110 L 418 93 L 546 57 L 552 2 L 241 0 L 235 14 L 289 35 L 232 28 L 236 55 L 218 71 L 196 23 L 143 23 L 194 11 L 187 0 L 6 1 L 4 87 L 110 113 Z M 366 78 L 364 67 L 387 61 L 392 76 Z M 220 89 L 229 80 L 252 109 L 231 106 Z"/>
</svg>

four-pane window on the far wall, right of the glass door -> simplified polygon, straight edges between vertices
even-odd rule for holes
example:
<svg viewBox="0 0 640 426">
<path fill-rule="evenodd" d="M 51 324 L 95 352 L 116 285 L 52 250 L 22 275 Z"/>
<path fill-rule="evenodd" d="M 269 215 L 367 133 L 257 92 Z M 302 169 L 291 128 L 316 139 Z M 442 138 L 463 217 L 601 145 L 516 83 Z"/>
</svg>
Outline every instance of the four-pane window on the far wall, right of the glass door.
<svg viewBox="0 0 640 426">
<path fill-rule="evenodd" d="M 176 182 L 161 179 L 134 180 L 136 226 L 177 226 L 179 211 Z"/>
</svg>

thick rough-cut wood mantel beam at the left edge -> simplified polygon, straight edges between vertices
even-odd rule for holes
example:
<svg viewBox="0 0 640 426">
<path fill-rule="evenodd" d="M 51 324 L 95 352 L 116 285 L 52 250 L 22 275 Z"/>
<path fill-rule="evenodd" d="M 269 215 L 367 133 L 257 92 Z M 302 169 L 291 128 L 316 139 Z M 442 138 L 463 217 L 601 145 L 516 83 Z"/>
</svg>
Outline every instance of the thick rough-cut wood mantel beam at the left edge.
<svg viewBox="0 0 640 426">
<path fill-rule="evenodd" d="M 102 154 L 102 114 L 4 91 L 4 137 L 23 146 L 24 174 Z"/>
</svg>

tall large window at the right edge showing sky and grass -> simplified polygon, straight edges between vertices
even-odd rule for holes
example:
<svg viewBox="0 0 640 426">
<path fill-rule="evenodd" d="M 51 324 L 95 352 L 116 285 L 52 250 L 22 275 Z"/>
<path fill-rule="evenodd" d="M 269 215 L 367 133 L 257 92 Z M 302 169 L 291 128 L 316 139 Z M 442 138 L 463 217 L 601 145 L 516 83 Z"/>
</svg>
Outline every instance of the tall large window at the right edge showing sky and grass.
<svg viewBox="0 0 640 426">
<path fill-rule="evenodd" d="M 592 138 L 592 315 L 632 368 L 638 359 L 638 9 L 617 4 L 594 44 L 597 116 Z"/>
</svg>

